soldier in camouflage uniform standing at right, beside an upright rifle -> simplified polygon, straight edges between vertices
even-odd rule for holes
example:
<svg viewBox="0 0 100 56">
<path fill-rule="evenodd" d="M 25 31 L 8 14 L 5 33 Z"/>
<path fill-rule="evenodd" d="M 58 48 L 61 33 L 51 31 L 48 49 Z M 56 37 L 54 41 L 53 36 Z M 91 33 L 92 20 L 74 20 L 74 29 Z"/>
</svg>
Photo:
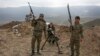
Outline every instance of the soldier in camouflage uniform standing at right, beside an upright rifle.
<svg viewBox="0 0 100 56">
<path fill-rule="evenodd" d="M 71 56 L 79 56 L 80 52 L 80 41 L 83 39 L 83 29 L 80 24 L 80 17 L 75 17 L 75 25 L 71 26 L 71 38 L 70 38 L 70 46 L 71 46 Z"/>
</svg>

